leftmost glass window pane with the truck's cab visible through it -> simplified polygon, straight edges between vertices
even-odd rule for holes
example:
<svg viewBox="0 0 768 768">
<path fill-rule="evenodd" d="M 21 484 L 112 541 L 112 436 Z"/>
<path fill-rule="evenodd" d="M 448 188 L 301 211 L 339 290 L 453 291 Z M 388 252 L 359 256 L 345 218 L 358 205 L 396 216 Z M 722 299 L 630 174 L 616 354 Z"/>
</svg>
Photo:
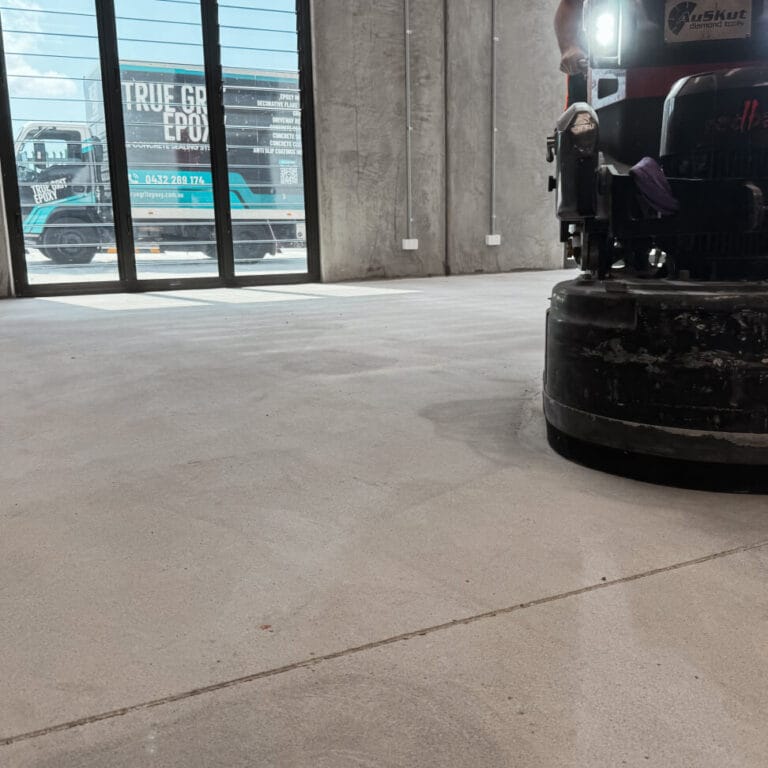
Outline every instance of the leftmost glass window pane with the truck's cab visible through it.
<svg viewBox="0 0 768 768">
<path fill-rule="evenodd" d="M 92 0 L 0 0 L 29 282 L 116 280 Z"/>
</svg>

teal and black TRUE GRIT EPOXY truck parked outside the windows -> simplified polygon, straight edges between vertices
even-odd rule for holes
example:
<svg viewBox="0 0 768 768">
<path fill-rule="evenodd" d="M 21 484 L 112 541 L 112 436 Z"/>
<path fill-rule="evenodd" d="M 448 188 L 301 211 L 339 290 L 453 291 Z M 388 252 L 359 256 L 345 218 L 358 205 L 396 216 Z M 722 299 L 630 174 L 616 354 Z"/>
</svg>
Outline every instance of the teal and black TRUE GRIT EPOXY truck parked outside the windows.
<svg viewBox="0 0 768 768">
<path fill-rule="evenodd" d="M 216 258 L 203 68 L 121 62 L 120 79 L 137 248 Z M 298 77 L 225 69 L 223 82 L 235 259 L 262 259 L 304 239 Z M 98 73 L 84 90 L 85 121 L 27 123 L 15 141 L 26 246 L 60 264 L 114 247 Z"/>
</svg>

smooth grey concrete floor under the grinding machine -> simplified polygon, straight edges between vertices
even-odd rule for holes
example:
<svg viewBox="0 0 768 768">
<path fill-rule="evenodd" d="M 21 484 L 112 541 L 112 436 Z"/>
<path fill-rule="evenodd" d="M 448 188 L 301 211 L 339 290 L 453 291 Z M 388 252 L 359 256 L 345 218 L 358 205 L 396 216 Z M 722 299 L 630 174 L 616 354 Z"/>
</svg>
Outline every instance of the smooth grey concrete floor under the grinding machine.
<svg viewBox="0 0 768 768">
<path fill-rule="evenodd" d="M 550 452 L 562 277 L 0 304 L 0 765 L 764 766 L 766 499 Z"/>
</svg>

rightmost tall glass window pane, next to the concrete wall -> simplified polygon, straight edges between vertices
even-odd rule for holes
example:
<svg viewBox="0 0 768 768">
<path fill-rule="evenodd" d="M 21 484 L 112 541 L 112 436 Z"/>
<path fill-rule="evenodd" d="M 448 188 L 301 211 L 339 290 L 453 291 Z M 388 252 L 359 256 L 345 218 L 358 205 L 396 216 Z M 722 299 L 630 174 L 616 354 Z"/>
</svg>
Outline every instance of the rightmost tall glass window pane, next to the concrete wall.
<svg viewBox="0 0 768 768">
<path fill-rule="evenodd" d="M 306 272 L 296 6 L 219 3 L 235 274 Z"/>
</svg>

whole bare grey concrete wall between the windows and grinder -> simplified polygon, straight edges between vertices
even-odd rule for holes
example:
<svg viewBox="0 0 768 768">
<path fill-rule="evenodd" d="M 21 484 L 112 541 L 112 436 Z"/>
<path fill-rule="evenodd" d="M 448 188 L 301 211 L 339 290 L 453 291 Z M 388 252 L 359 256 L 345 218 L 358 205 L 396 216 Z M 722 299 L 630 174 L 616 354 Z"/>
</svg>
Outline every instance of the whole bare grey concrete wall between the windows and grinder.
<svg viewBox="0 0 768 768">
<path fill-rule="evenodd" d="M 411 0 L 416 252 L 405 237 L 403 0 L 314 0 L 323 277 L 554 268 L 545 138 L 562 110 L 557 0 L 499 6 L 500 247 L 490 217 L 491 0 Z"/>
</svg>

